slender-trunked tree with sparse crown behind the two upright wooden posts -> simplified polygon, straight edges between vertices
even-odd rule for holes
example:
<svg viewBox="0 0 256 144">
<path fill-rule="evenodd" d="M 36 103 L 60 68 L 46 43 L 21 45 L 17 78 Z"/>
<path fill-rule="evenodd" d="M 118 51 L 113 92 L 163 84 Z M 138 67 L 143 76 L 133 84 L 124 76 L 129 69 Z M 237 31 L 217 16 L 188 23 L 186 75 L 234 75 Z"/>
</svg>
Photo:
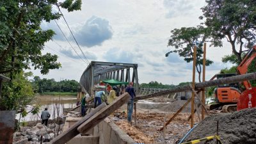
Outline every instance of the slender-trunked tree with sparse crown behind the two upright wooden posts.
<svg viewBox="0 0 256 144">
<path fill-rule="evenodd" d="M 193 47 L 197 44 L 196 71 L 198 72 L 198 80 L 201 82 L 201 65 L 203 64 L 202 54 L 204 54 L 203 43 L 207 40 L 208 29 L 202 26 L 197 26 L 196 28 L 173 29 L 171 33 L 172 35 L 168 41 L 168 46 L 172 46 L 173 50 L 167 52 L 166 57 L 169 56 L 170 53 L 175 52 L 189 63 L 193 61 Z M 206 60 L 206 66 L 209 66 L 212 63 L 213 61 Z"/>
</svg>

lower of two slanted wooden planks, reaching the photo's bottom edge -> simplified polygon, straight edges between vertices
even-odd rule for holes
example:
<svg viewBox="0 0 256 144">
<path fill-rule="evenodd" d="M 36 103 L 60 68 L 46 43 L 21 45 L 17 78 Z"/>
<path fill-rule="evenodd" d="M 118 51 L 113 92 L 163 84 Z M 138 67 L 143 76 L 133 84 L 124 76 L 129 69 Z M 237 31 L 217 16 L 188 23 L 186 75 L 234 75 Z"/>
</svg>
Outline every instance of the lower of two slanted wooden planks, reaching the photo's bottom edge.
<svg viewBox="0 0 256 144">
<path fill-rule="evenodd" d="M 67 129 L 67 131 L 62 132 L 59 136 L 57 136 L 56 138 L 54 138 L 53 140 L 51 140 L 49 143 L 50 144 L 62 144 L 62 143 L 67 143 L 67 141 L 71 140 L 72 138 L 74 138 L 77 134 L 79 134 L 79 131 L 77 131 L 77 127 L 79 127 L 79 125 L 83 124 L 84 122 L 86 122 L 86 120 L 88 120 L 90 117 L 92 117 L 93 115 L 95 115 L 95 113 L 97 113 L 98 111 L 100 111 L 100 109 L 103 109 L 104 107 L 106 107 L 107 105 L 104 103 L 100 104 L 100 106 L 97 106 L 97 108 L 93 109 L 90 113 L 88 113 L 87 115 L 85 115 L 81 120 L 79 120 L 78 122 L 76 122 L 74 125 L 72 125 L 72 127 L 70 127 L 69 129 Z"/>
</svg>

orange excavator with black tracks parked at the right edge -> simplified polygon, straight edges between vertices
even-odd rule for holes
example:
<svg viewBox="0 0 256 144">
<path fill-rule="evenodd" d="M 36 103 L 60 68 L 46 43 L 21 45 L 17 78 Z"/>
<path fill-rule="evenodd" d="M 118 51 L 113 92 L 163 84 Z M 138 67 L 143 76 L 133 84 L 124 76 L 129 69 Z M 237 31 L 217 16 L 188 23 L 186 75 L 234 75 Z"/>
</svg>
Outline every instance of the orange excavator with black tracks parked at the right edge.
<svg viewBox="0 0 256 144">
<path fill-rule="evenodd" d="M 246 74 L 248 66 L 256 57 L 256 45 L 244 56 L 243 61 L 237 67 L 237 74 Z M 217 79 L 236 76 L 236 74 L 218 74 Z M 239 83 L 219 85 L 215 90 L 215 102 L 207 105 L 209 110 L 217 109 L 222 112 L 239 111 L 246 108 L 256 107 L 256 88 L 249 81 L 243 81 L 245 90 L 240 91 Z"/>
</svg>

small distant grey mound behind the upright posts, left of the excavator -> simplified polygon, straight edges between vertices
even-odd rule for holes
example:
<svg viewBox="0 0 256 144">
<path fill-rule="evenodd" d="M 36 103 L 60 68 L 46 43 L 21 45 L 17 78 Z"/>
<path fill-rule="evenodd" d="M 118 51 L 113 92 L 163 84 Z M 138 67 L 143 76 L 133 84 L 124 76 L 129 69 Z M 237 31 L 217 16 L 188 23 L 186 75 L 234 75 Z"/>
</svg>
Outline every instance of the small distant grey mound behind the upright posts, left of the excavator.
<svg viewBox="0 0 256 144">
<path fill-rule="evenodd" d="M 188 100 L 176 100 L 174 102 L 171 102 L 170 104 L 168 104 L 167 106 L 163 106 L 161 108 L 159 108 L 162 111 L 172 111 L 172 112 L 176 112 L 178 111 Z M 191 112 L 191 108 L 190 108 L 190 103 L 188 104 L 188 106 L 186 106 L 186 108 L 184 108 L 182 110 L 182 112 L 184 113 L 189 113 Z"/>
</svg>

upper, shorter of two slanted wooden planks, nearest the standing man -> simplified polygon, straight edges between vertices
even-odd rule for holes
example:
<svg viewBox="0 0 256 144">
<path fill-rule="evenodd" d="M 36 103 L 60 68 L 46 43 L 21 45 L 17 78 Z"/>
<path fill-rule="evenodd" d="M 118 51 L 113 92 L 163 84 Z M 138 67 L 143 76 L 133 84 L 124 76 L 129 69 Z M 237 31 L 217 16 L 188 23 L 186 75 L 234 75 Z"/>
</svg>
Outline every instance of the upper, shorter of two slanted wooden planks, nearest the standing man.
<svg viewBox="0 0 256 144">
<path fill-rule="evenodd" d="M 116 109 L 120 108 L 125 102 L 131 99 L 129 93 L 124 93 L 121 96 L 117 97 L 115 101 L 106 106 L 106 108 L 101 109 L 98 113 L 93 115 L 89 120 L 86 120 L 83 124 L 81 124 L 77 130 L 81 133 L 89 131 L 92 127 L 99 124 L 104 118 L 113 113 Z"/>
</svg>

